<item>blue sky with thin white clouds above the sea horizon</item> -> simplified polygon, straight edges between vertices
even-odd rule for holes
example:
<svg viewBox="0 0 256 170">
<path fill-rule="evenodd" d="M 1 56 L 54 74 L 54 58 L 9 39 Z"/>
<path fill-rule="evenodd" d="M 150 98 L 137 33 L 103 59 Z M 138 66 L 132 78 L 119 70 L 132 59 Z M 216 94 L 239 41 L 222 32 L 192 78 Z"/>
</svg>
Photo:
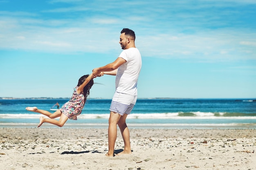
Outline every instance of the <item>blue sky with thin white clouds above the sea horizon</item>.
<svg viewBox="0 0 256 170">
<path fill-rule="evenodd" d="M 0 0 L 0 97 L 71 97 L 114 61 L 122 28 L 142 56 L 138 98 L 256 98 L 255 0 Z M 90 98 L 112 98 L 115 76 Z"/>
</svg>

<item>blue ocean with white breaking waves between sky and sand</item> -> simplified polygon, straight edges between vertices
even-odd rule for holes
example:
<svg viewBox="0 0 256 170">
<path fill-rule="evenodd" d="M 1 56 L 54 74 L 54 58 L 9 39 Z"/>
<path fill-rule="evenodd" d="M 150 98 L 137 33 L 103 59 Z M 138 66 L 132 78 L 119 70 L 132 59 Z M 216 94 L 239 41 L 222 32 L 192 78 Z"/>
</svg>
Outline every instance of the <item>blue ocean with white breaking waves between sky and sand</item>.
<svg viewBox="0 0 256 170">
<path fill-rule="evenodd" d="M 37 127 L 40 113 L 69 99 L 1 99 L 0 127 Z M 62 128 L 108 128 L 110 99 L 88 99 L 77 118 Z M 138 99 L 127 118 L 129 128 L 256 129 L 256 99 Z M 44 123 L 40 128 L 58 126 Z"/>
</svg>

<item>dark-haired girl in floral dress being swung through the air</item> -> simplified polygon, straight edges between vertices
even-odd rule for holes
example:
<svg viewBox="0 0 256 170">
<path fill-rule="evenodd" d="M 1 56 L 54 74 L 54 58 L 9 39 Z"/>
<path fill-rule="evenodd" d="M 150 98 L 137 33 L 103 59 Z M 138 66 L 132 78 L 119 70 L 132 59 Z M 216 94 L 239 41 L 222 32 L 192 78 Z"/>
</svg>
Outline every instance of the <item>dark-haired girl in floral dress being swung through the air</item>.
<svg viewBox="0 0 256 170">
<path fill-rule="evenodd" d="M 61 107 L 61 109 L 55 111 L 54 113 L 50 113 L 46 110 L 37 109 L 37 107 L 26 107 L 26 110 L 41 113 L 50 118 L 48 119 L 41 116 L 40 122 L 37 127 L 40 127 L 44 122 L 48 122 L 62 127 L 65 122 L 67 122 L 67 119 L 77 120 L 76 116 L 81 114 L 82 109 L 85 105 L 86 98 L 90 94 L 90 89 L 92 88 L 92 85 L 92 74 L 87 74 L 79 78 L 77 86 L 74 87 L 74 92 L 71 99 L 66 102 Z M 60 117 L 59 120 L 54 119 L 58 117 Z"/>
</svg>

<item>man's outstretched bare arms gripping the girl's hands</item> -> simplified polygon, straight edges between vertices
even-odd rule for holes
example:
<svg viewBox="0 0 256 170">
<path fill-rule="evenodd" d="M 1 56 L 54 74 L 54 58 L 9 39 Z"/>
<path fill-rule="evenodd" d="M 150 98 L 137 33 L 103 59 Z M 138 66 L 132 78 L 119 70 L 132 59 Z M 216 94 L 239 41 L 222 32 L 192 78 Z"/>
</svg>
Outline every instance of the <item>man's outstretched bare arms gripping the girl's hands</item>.
<svg viewBox="0 0 256 170">
<path fill-rule="evenodd" d="M 94 75 L 98 75 L 101 72 L 108 72 L 108 73 L 110 73 L 110 75 L 115 75 L 116 72 L 115 72 L 115 74 L 113 74 L 114 71 L 115 70 L 117 71 L 117 68 L 119 68 L 119 66 L 124 64 L 124 63 L 126 63 L 126 60 L 121 58 L 121 57 L 118 57 L 113 63 L 109 63 L 109 64 L 107 64 L 107 65 L 105 65 L 103 67 L 94 68 L 92 70 L 92 73 Z"/>
</svg>

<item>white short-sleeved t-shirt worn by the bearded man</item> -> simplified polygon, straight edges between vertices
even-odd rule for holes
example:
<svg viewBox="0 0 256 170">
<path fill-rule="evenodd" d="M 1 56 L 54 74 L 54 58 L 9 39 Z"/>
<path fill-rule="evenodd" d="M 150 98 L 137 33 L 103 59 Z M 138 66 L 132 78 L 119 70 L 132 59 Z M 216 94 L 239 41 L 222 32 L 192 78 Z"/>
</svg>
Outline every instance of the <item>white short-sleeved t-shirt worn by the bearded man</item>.
<svg viewBox="0 0 256 170">
<path fill-rule="evenodd" d="M 137 48 L 123 50 L 119 57 L 126 60 L 117 70 L 116 92 L 137 96 L 141 55 Z"/>
</svg>

